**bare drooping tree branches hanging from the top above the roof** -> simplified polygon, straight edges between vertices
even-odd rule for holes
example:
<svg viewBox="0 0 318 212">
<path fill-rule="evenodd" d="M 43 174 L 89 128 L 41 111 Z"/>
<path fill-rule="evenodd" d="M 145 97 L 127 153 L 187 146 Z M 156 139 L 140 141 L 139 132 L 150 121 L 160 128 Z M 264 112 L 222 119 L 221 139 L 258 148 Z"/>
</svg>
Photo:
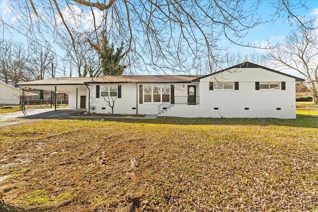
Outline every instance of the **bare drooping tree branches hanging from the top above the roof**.
<svg viewBox="0 0 318 212">
<path fill-rule="evenodd" d="M 200 58 L 219 64 L 221 60 L 215 54 L 221 49 L 218 41 L 228 39 L 251 46 L 239 39 L 260 22 L 255 15 L 258 2 L 238 0 L 26 0 L 11 4 L 21 12 L 19 21 L 32 24 L 30 33 L 46 29 L 65 39 L 66 32 L 71 40 L 70 49 L 77 48 L 79 34 L 100 43 L 98 35 L 104 31 L 109 43 L 124 43 L 124 64 L 129 64 L 131 72 L 141 67 L 152 71 L 189 71 Z M 86 14 L 91 17 L 89 22 L 82 18 Z"/>
</svg>

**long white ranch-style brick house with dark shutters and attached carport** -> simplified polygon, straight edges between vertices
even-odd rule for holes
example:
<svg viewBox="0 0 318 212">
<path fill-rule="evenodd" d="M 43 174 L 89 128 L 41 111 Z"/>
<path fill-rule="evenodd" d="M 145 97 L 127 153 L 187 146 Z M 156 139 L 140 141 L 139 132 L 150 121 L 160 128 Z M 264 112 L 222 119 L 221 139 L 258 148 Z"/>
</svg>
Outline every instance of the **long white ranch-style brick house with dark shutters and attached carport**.
<svg viewBox="0 0 318 212">
<path fill-rule="evenodd" d="M 295 86 L 304 79 L 252 63 L 208 75 L 50 78 L 19 86 L 69 94 L 69 108 L 176 117 L 296 118 Z"/>
</svg>

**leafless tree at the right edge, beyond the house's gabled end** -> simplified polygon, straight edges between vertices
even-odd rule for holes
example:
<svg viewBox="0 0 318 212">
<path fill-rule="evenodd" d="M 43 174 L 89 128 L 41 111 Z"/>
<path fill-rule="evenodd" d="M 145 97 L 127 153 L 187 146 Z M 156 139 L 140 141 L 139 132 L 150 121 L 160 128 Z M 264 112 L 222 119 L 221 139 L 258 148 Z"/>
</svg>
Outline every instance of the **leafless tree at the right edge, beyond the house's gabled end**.
<svg viewBox="0 0 318 212">
<path fill-rule="evenodd" d="M 298 71 L 309 83 L 313 102 L 318 104 L 318 28 L 315 24 L 315 21 L 305 26 L 298 24 L 284 43 L 268 51 L 267 55 L 278 68 Z"/>
</svg>

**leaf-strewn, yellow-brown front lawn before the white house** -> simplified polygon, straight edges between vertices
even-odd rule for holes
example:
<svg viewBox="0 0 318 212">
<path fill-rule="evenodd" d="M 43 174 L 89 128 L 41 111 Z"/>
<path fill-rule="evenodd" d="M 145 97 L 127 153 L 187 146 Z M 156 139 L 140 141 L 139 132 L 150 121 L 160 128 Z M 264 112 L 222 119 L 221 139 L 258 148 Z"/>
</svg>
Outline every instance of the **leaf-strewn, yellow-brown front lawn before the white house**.
<svg viewBox="0 0 318 212">
<path fill-rule="evenodd" d="M 298 117 L 3 127 L 0 189 L 19 205 L 70 199 L 61 212 L 315 211 L 317 119 Z"/>
</svg>

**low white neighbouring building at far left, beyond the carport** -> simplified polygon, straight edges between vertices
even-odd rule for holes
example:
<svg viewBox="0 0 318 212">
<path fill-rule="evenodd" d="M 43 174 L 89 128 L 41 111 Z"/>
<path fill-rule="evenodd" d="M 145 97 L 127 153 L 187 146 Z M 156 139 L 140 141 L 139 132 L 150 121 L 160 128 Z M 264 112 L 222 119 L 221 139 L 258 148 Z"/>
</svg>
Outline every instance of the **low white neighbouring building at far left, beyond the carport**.
<svg viewBox="0 0 318 212">
<path fill-rule="evenodd" d="M 20 95 L 22 95 L 22 90 L 0 81 L 0 105 L 18 105 Z M 37 94 L 25 92 L 25 95 L 35 96 Z"/>
</svg>

